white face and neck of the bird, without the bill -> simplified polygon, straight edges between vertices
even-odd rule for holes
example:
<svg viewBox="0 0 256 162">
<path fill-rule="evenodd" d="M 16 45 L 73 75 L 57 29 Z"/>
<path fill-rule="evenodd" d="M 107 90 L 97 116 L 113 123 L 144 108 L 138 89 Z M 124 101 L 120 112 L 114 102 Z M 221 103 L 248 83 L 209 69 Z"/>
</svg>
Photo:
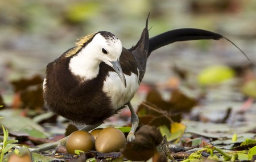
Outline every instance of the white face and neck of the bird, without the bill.
<svg viewBox="0 0 256 162">
<path fill-rule="evenodd" d="M 69 62 L 69 70 L 83 79 L 96 78 L 101 62 L 113 67 L 111 62 L 119 61 L 122 43 L 109 32 L 99 32 Z"/>
</svg>

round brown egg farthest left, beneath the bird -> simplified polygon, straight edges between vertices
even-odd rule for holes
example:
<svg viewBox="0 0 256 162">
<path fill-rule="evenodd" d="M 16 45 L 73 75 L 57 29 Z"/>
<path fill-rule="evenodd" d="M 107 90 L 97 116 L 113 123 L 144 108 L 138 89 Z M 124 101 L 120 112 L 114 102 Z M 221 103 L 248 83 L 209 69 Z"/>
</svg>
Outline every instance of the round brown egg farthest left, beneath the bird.
<svg viewBox="0 0 256 162">
<path fill-rule="evenodd" d="M 95 140 L 87 131 L 78 130 L 69 135 L 66 141 L 66 148 L 69 154 L 75 154 L 75 150 L 93 150 Z"/>
</svg>

